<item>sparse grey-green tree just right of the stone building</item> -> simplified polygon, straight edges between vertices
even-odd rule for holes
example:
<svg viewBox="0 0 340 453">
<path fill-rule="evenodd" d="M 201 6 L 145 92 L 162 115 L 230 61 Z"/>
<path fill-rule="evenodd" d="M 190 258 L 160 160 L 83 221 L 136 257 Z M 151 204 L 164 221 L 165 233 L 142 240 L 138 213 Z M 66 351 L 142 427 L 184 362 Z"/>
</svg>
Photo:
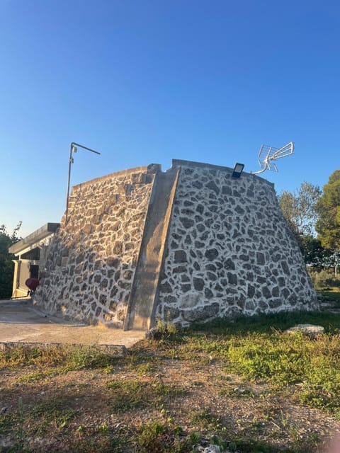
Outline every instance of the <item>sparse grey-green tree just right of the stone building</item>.
<svg viewBox="0 0 340 453">
<path fill-rule="evenodd" d="M 317 222 L 316 205 L 322 191 L 318 185 L 302 183 L 297 192 L 283 191 L 278 195 L 280 208 L 295 236 L 314 236 Z"/>
</svg>

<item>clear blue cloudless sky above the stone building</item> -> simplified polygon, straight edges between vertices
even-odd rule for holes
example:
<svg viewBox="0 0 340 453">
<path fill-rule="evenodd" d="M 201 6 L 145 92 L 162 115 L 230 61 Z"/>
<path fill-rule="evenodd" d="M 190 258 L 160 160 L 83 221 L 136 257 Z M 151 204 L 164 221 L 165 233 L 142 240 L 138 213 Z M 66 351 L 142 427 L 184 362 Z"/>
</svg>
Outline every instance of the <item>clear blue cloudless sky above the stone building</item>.
<svg viewBox="0 0 340 453">
<path fill-rule="evenodd" d="M 278 193 L 340 168 L 339 1 L 0 0 L 0 224 L 60 222 L 72 185 L 171 159 Z"/>
</svg>

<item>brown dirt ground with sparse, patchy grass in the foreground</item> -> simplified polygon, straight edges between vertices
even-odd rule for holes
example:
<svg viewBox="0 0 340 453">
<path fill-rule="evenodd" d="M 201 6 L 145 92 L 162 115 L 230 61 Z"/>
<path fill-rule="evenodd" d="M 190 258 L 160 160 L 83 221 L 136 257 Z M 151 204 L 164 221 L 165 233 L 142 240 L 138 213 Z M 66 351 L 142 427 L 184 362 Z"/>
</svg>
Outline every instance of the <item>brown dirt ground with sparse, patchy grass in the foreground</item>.
<svg viewBox="0 0 340 453">
<path fill-rule="evenodd" d="M 0 371 L 0 409 L 9 419 L 18 414 L 21 398 L 31 452 L 93 452 L 95 447 L 103 453 L 145 452 L 137 447 L 141 427 L 157 420 L 180 426 L 184 435 L 200 432 L 209 439 L 222 434 L 263 445 L 238 452 L 325 453 L 325 443 L 340 429 L 333 417 L 294 401 L 296 389 L 271 393 L 266 384 L 242 382 L 213 361 L 194 365 L 159 356 L 152 362 L 125 360 L 106 370 L 27 379 L 38 371 L 35 366 Z M 142 385 L 140 396 L 136 382 Z M 63 419 L 60 414 L 71 415 Z M 15 445 L 18 426 L 16 421 L 5 432 L 4 447 Z"/>
</svg>

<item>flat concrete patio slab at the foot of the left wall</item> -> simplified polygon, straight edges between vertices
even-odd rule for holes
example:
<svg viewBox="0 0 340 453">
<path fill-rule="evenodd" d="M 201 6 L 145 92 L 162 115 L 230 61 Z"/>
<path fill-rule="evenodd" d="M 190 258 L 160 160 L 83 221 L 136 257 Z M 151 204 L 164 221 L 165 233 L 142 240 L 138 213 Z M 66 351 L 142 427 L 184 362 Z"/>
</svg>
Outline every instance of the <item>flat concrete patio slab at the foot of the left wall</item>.
<svg viewBox="0 0 340 453">
<path fill-rule="evenodd" d="M 144 331 L 65 321 L 33 306 L 31 299 L 0 302 L 0 343 L 122 345 L 130 348 L 142 338 L 145 338 Z"/>
</svg>

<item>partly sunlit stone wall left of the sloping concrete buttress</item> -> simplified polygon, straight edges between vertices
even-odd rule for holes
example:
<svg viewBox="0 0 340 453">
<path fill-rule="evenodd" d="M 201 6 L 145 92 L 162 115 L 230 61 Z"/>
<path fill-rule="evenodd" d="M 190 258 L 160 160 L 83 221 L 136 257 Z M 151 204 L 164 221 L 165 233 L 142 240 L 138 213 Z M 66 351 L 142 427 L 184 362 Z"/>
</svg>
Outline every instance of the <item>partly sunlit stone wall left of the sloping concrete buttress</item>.
<svg viewBox="0 0 340 453">
<path fill-rule="evenodd" d="M 150 167 L 150 166 L 149 166 Z M 35 302 L 70 319 L 123 326 L 158 168 L 139 167 L 77 185 L 69 220 L 50 245 Z"/>
</svg>

